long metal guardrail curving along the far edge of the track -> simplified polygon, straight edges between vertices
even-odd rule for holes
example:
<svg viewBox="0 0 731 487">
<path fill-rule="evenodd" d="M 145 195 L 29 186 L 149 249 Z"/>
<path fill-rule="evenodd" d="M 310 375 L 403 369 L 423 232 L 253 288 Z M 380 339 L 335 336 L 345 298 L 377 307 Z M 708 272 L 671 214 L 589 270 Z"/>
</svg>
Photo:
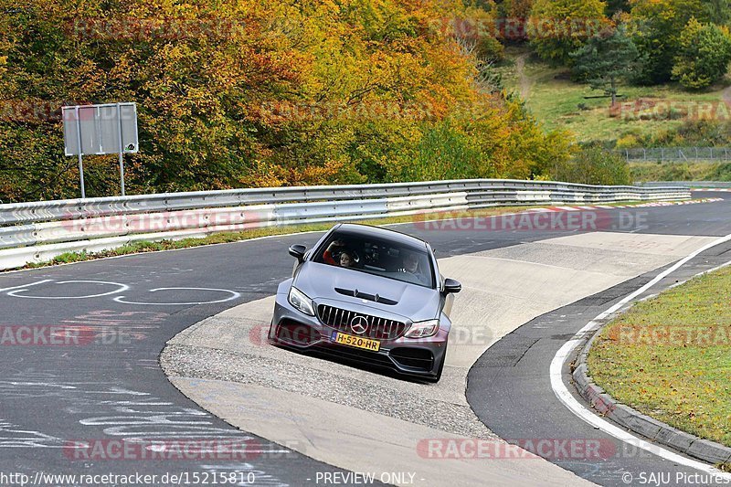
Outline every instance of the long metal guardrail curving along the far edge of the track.
<svg viewBox="0 0 731 487">
<path fill-rule="evenodd" d="M 487 206 L 687 199 L 683 187 L 596 186 L 474 179 L 249 188 L 0 205 L 0 270 L 69 251 L 298 223 L 459 211 Z"/>
</svg>

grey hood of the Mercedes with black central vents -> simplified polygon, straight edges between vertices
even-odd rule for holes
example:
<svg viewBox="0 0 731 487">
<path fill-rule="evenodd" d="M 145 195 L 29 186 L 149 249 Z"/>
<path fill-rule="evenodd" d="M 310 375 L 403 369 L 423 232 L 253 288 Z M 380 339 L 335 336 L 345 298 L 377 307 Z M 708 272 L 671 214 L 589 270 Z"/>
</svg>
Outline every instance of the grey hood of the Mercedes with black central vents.
<svg viewBox="0 0 731 487">
<path fill-rule="evenodd" d="M 323 299 L 352 302 L 396 313 L 414 322 L 437 318 L 440 312 L 440 292 L 437 290 L 328 264 L 304 262 L 292 284 L 315 302 Z M 359 296 L 377 294 L 379 302 L 344 294 L 344 291 L 355 290 Z"/>
</svg>

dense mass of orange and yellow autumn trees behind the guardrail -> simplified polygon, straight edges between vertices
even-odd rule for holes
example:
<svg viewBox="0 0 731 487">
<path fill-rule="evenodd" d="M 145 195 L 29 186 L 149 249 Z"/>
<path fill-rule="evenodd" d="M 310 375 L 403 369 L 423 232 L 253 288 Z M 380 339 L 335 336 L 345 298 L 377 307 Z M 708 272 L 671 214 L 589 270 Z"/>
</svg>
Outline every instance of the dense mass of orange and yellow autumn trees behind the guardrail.
<svg viewBox="0 0 731 487">
<path fill-rule="evenodd" d="M 567 156 L 568 137 L 485 89 L 480 63 L 498 46 L 465 50 L 433 28 L 469 8 L 0 0 L 0 199 L 78 195 L 58 117 L 77 102 L 137 103 L 130 194 L 535 175 L 544 154 Z M 85 159 L 89 196 L 118 191 L 115 163 Z"/>
</svg>

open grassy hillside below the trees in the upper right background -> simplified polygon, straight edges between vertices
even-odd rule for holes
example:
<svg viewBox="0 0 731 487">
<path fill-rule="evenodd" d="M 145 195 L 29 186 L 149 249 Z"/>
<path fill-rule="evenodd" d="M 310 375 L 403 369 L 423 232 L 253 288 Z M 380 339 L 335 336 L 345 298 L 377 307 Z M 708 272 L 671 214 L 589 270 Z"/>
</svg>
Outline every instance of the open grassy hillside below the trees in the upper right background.
<svg viewBox="0 0 731 487">
<path fill-rule="evenodd" d="M 677 83 L 624 85 L 620 106 L 612 113 L 602 91 L 572 81 L 568 69 L 553 68 L 526 48 L 507 49 L 497 70 L 505 88 L 520 93 L 548 130 L 568 130 L 580 142 L 616 141 L 620 148 L 636 147 L 642 146 L 643 137 L 675 131 L 683 122 L 731 121 L 728 75 L 702 91 L 683 90 Z"/>
</svg>

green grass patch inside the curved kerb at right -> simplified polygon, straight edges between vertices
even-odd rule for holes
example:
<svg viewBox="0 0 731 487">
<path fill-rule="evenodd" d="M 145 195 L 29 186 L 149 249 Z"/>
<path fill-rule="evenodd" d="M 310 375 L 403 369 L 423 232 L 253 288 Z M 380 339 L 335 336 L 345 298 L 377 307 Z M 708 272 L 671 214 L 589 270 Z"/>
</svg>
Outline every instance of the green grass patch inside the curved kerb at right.
<svg viewBox="0 0 731 487">
<path fill-rule="evenodd" d="M 589 374 L 631 408 L 731 446 L 729 303 L 731 267 L 635 304 L 599 333 Z"/>
</svg>

